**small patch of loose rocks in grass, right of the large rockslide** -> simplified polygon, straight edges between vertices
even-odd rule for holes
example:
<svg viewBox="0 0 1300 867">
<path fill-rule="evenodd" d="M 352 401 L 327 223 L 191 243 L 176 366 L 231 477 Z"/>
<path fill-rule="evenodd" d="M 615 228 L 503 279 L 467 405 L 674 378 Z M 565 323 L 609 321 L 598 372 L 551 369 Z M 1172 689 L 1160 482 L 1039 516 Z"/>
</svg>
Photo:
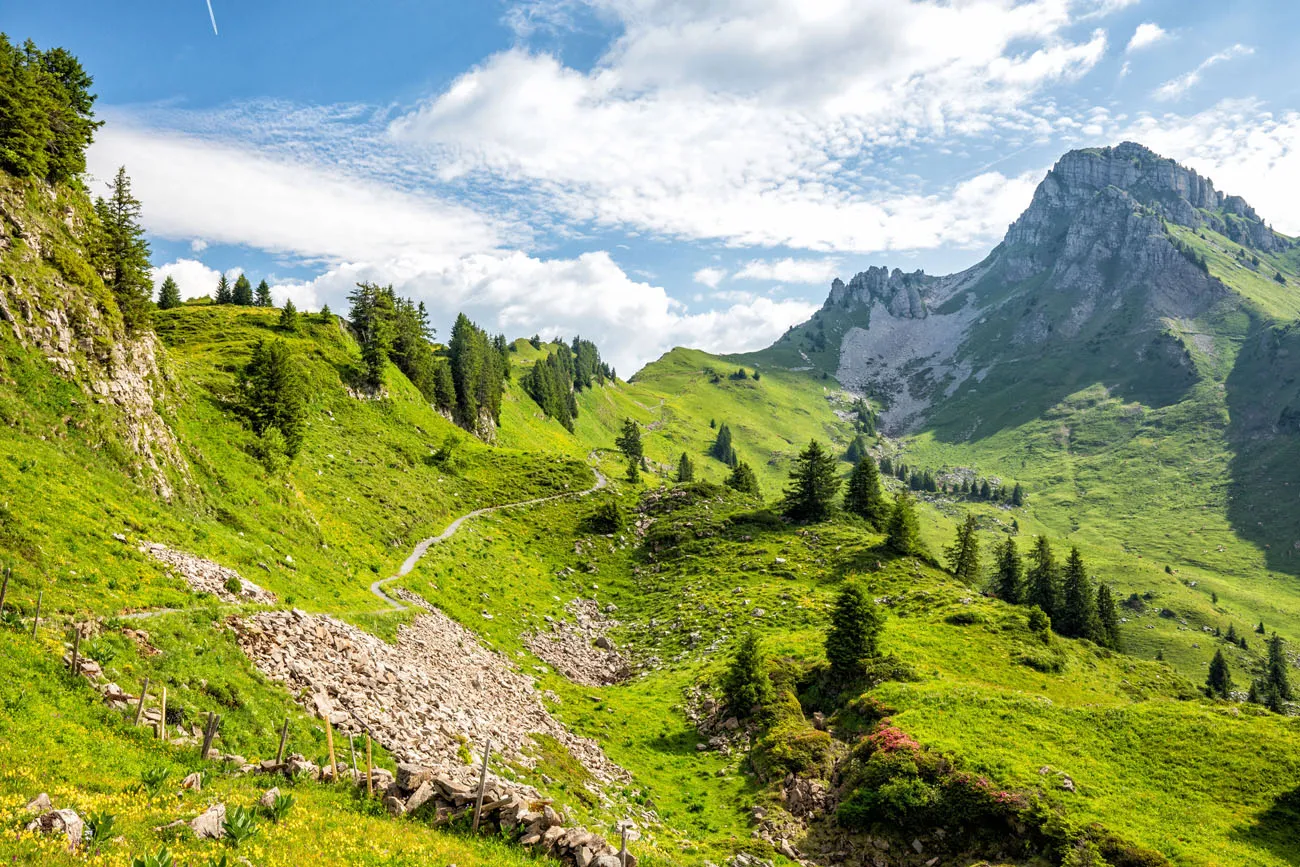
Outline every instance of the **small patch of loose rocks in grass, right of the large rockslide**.
<svg viewBox="0 0 1300 867">
<path fill-rule="evenodd" d="M 528 649 L 575 684 L 607 686 L 627 680 L 632 675 L 628 660 L 606 634 L 619 625 L 607 616 L 612 606 L 602 611 L 595 599 L 573 599 L 566 608 L 572 620 L 547 616 L 550 632 L 528 634 Z"/>
</svg>

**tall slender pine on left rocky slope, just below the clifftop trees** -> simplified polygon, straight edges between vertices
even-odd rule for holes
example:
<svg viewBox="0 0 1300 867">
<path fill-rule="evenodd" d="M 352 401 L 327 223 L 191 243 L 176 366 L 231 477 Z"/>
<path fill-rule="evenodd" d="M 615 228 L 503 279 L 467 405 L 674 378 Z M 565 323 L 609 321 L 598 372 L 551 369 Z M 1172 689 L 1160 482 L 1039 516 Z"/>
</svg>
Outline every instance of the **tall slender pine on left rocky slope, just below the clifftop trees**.
<svg viewBox="0 0 1300 867">
<path fill-rule="evenodd" d="M 95 200 L 95 214 L 103 238 L 103 250 L 95 256 L 103 265 L 100 276 L 113 291 L 127 330 L 147 328 L 153 296 L 150 244 L 126 166 L 117 170 L 108 199 Z"/>
</svg>

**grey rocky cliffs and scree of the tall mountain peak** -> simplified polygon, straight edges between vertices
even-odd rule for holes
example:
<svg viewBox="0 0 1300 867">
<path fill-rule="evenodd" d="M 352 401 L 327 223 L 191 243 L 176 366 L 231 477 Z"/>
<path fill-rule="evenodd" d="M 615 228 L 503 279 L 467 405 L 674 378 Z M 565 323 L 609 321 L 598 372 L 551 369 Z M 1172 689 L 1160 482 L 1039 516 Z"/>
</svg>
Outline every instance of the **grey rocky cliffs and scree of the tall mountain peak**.
<svg viewBox="0 0 1300 867">
<path fill-rule="evenodd" d="M 870 268 L 836 279 L 816 330 L 828 330 L 827 317 L 849 317 L 836 377 L 884 403 L 887 433 L 914 430 L 1009 356 L 1032 372 L 1044 347 L 1069 341 L 1080 342 L 1083 357 L 1131 339 L 1115 359 L 1130 381 L 1178 382 L 1195 376 L 1182 338 L 1150 335 L 1195 330 L 1186 324 L 1230 291 L 1169 225 L 1260 252 L 1291 244 L 1240 198 L 1140 144 L 1071 151 L 984 261 L 948 277 Z M 1213 351 L 1213 341 L 1201 343 Z"/>
</svg>

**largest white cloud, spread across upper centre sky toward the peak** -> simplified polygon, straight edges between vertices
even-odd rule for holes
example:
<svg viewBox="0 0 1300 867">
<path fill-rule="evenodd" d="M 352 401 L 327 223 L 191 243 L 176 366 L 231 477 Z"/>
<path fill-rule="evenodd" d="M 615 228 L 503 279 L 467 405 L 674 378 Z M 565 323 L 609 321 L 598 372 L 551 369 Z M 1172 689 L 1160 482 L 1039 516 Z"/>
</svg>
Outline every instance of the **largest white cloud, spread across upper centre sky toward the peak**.
<svg viewBox="0 0 1300 867">
<path fill-rule="evenodd" d="M 950 195 L 872 190 L 875 160 L 1032 122 L 1020 116 L 1027 100 L 1105 52 L 1105 32 L 1071 42 L 1067 29 L 1114 4 L 588 5 L 623 26 L 595 68 L 502 52 L 398 117 L 391 139 L 422 148 L 445 181 L 508 188 L 598 227 L 870 252 L 930 246 L 979 220 L 946 207 Z"/>
</svg>

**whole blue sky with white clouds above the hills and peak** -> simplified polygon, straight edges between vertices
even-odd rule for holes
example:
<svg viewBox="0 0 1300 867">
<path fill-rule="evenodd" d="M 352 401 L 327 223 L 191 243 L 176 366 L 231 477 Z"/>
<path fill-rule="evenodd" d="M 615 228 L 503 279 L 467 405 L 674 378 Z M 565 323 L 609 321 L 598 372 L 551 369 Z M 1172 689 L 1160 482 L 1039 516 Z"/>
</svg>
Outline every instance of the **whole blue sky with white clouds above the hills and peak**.
<svg viewBox="0 0 1300 867">
<path fill-rule="evenodd" d="M 1291 3 L 13 3 L 108 121 L 159 279 L 358 279 L 619 369 L 763 346 L 874 264 L 997 243 L 1066 149 L 1135 139 L 1300 234 Z"/>
</svg>

